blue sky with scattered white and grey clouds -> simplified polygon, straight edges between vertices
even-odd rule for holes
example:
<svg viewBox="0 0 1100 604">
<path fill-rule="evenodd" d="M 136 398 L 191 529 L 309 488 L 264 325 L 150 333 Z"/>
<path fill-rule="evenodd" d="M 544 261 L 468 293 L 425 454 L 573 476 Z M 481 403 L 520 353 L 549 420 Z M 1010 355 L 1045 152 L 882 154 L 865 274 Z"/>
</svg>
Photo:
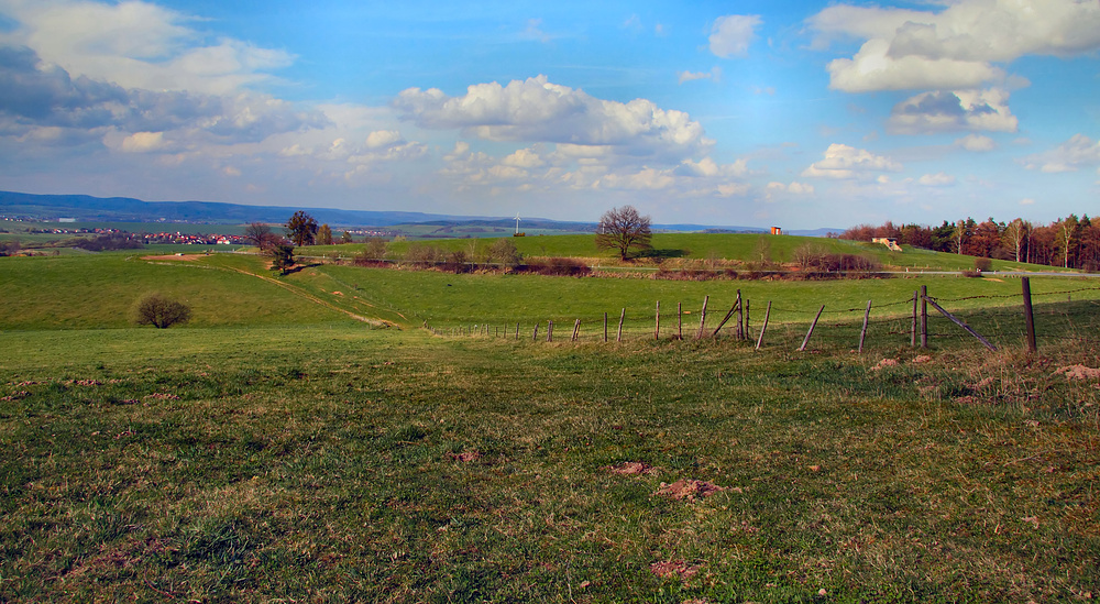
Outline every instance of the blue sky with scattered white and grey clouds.
<svg viewBox="0 0 1100 604">
<path fill-rule="evenodd" d="M 1100 213 L 1100 0 L 0 0 L 0 189 L 789 229 Z"/>
</svg>

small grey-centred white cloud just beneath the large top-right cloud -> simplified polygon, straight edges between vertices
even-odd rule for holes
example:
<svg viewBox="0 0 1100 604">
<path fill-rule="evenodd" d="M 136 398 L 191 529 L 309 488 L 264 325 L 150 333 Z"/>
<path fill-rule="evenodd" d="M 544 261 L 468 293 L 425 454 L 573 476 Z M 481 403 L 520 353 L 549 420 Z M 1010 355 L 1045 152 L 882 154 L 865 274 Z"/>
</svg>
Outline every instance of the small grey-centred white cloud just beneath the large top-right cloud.
<svg viewBox="0 0 1100 604">
<path fill-rule="evenodd" d="M 999 88 L 924 92 L 895 105 L 887 125 L 899 134 L 1015 132 L 1019 122 L 1008 102 L 1009 92 Z"/>
</svg>

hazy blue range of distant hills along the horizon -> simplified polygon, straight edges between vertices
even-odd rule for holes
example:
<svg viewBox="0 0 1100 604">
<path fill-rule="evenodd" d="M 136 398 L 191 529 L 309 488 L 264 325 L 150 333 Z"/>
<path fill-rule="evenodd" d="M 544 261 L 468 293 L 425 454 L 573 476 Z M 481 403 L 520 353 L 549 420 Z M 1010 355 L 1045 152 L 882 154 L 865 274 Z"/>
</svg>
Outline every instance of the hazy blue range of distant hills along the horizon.
<svg viewBox="0 0 1100 604">
<path fill-rule="evenodd" d="M 73 219 L 79 222 L 189 222 L 196 224 L 283 223 L 298 209 L 318 222 L 333 227 L 393 227 L 397 224 L 515 226 L 514 218 L 471 217 L 424 212 L 340 210 L 333 208 L 287 208 L 245 206 L 215 201 L 142 201 L 130 197 L 90 195 L 34 195 L 0 191 L 0 216 L 41 221 Z M 595 222 L 566 222 L 543 218 L 524 218 L 522 229 L 594 231 Z M 757 227 L 715 227 L 712 224 L 653 224 L 662 231 L 765 232 Z M 785 231 L 789 234 L 823 237 L 843 229 Z"/>
</svg>

